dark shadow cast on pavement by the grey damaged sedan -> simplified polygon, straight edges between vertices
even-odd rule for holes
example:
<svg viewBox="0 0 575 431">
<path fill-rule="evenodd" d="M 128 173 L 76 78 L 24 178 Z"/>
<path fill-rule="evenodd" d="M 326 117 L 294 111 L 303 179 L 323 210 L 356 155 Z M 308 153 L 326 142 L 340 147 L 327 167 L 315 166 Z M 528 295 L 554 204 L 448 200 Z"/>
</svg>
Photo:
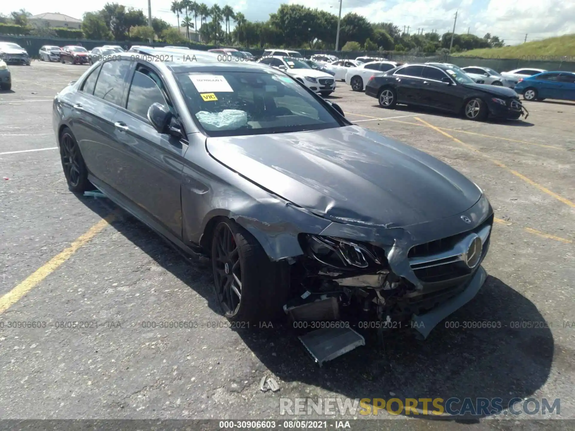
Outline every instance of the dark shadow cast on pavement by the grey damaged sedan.
<svg viewBox="0 0 575 431">
<path fill-rule="evenodd" d="M 221 314 L 209 264 L 181 257 L 109 199 L 80 199 L 101 217 L 115 211 L 114 229 Z M 440 322 L 426 340 L 417 340 L 410 330 L 403 329 L 393 330 L 383 339 L 375 332 L 362 332 L 365 347 L 322 368 L 298 340 L 299 334 L 309 330 L 294 329 L 289 322 L 264 322 L 258 329 L 236 332 L 278 379 L 278 398 L 313 398 L 316 402 L 318 397 L 471 398 L 475 404 L 477 398 L 501 398 L 505 409 L 511 399 L 526 398 L 545 384 L 555 348 L 553 335 L 536 306 L 494 276 L 488 276 L 477 296 Z M 457 402 L 452 405 L 454 409 L 460 406 Z M 457 420 L 478 417 L 460 415 Z"/>
</svg>

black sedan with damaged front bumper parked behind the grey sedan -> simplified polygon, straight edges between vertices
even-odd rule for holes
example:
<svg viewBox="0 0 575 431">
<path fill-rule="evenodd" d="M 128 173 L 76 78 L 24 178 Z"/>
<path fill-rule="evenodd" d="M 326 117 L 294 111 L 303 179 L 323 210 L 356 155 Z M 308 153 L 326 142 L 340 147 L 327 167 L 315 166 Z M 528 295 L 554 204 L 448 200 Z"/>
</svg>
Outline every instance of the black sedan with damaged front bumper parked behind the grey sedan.
<svg viewBox="0 0 575 431">
<path fill-rule="evenodd" d="M 488 117 L 517 120 L 529 115 L 511 88 L 477 84 L 459 67 L 451 64 L 409 64 L 374 76 L 365 93 L 379 106 L 393 108 L 396 103 L 434 107 L 470 120 Z"/>
</svg>

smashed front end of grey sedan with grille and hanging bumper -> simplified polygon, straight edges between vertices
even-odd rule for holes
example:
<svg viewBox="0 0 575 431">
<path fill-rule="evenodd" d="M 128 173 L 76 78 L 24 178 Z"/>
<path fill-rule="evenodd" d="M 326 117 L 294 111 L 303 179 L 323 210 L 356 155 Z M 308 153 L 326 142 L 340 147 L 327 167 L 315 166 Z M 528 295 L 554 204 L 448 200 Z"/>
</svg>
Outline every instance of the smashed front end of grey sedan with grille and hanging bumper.
<svg viewBox="0 0 575 431">
<path fill-rule="evenodd" d="M 284 311 L 294 323 L 308 322 L 295 328 L 316 329 L 300 340 L 320 365 L 365 345 L 360 334 L 365 329 L 415 330 L 427 338 L 484 284 L 481 263 L 492 224 L 493 210 L 482 195 L 465 213 L 424 224 L 400 228 L 332 222 L 319 234 L 300 233 L 303 255 L 276 255 L 291 268 L 294 299 Z M 246 227 L 256 232 L 253 225 Z M 287 246 L 281 236 L 275 236 L 270 255 Z"/>
</svg>

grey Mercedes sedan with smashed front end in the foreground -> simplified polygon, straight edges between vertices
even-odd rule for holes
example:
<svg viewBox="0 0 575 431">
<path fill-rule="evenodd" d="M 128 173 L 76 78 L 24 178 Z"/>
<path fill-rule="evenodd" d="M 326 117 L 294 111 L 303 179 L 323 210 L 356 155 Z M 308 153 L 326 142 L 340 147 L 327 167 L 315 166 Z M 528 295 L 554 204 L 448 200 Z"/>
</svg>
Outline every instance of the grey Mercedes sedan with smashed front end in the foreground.
<svg viewBox="0 0 575 431">
<path fill-rule="evenodd" d="M 313 320 L 411 319 L 427 336 L 476 295 L 493 210 L 458 171 L 351 124 L 274 68 L 137 57 L 94 64 L 56 95 L 68 186 L 95 186 L 211 257 L 229 320 L 306 306 Z"/>
</svg>

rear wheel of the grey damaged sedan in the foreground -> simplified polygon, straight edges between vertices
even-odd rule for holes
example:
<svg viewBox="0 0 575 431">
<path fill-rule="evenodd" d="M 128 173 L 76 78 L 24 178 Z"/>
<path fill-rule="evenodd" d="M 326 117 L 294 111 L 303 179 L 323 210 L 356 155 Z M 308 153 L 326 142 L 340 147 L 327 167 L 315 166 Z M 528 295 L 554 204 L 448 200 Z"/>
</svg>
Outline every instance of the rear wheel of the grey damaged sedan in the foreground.
<svg viewBox="0 0 575 431">
<path fill-rule="evenodd" d="M 60 160 L 68 188 L 74 193 L 92 190 L 88 169 L 72 130 L 64 128 L 60 134 Z"/>
</svg>

